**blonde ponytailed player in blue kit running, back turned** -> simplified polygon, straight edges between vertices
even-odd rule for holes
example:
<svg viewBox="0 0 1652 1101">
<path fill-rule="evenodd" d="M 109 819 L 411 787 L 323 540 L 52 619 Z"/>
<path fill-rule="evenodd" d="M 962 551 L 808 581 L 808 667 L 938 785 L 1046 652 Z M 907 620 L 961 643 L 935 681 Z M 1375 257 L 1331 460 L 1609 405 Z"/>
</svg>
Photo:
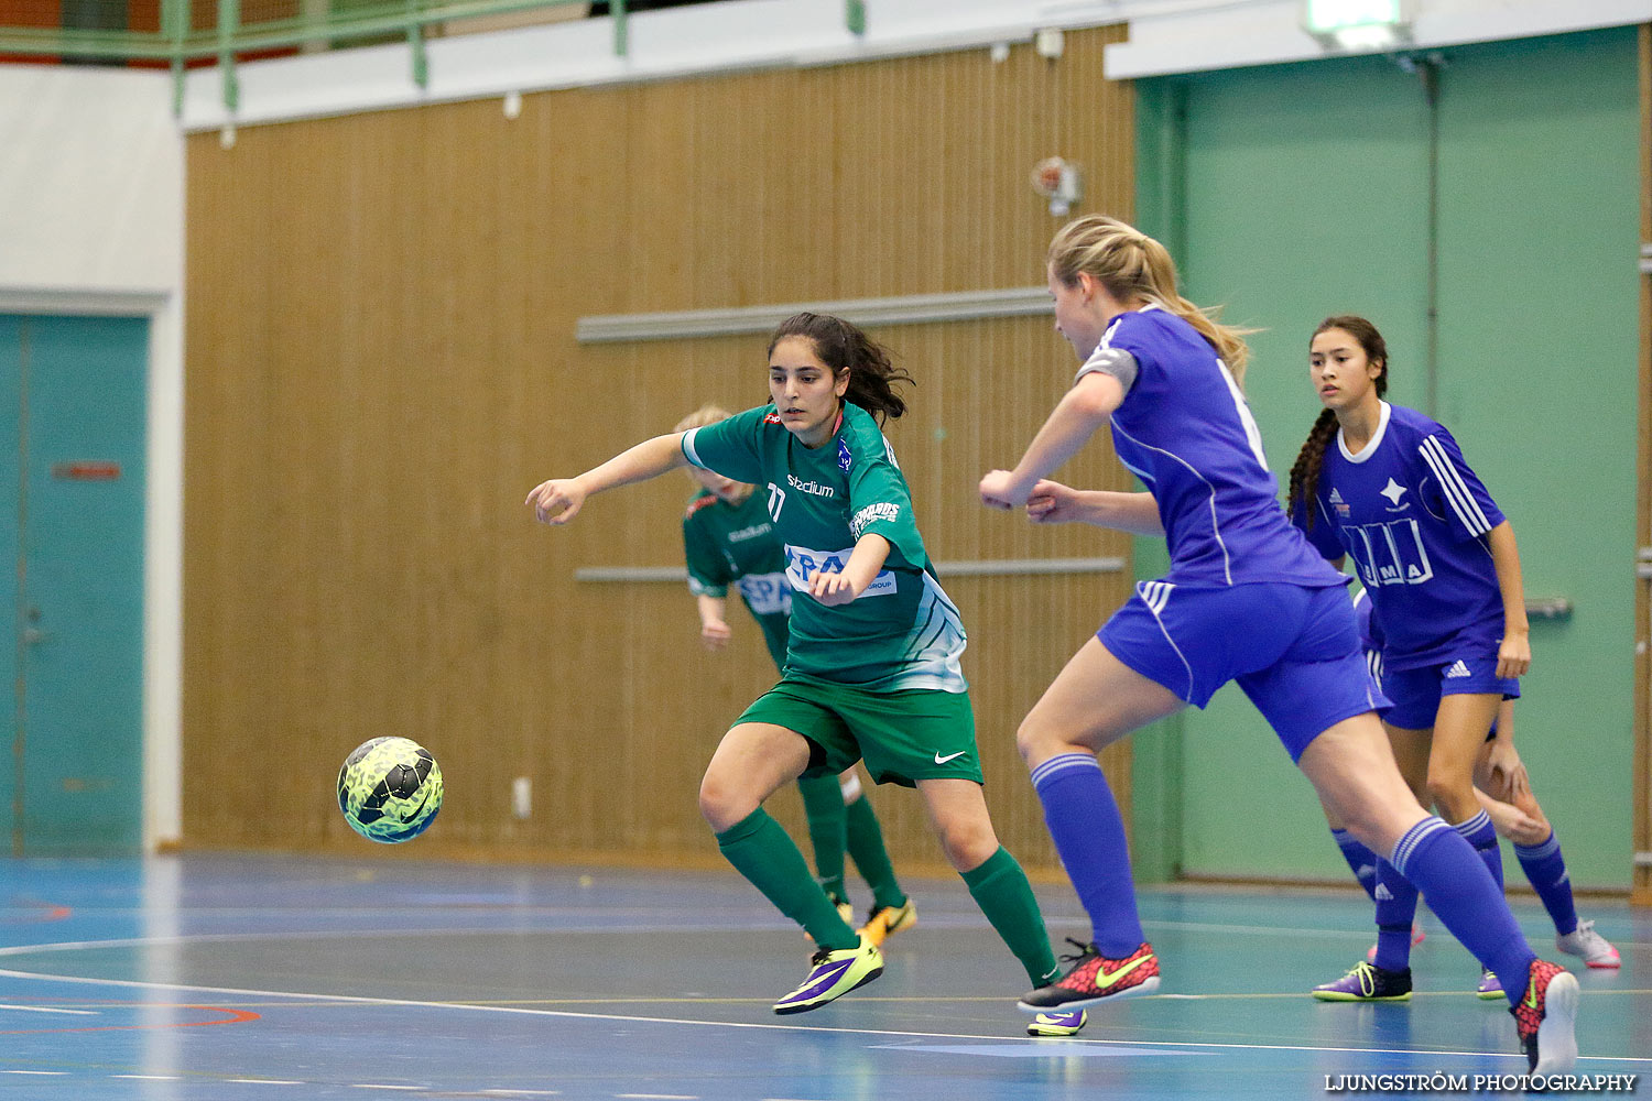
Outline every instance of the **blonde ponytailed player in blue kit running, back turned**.
<svg viewBox="0 0 1652 1101">
<path fill-rule="evenodd" d="M 1095 754 L 1236 680 L 1348 830 L 1421 886 L 1475 957 L 1521 977 L 1508 1000 L 1530 1066 L 1571 1068 L 1578 981 L 1536 959 L 1474 848 L 1399 776 L 1345 579 L 1279 508 L 1239 391 L 1241 333 L 1183 299 L 1165 248 L 1113 218 L 1062 228 L 1047 269 L 1056 328 L 1082 366 L 1016 469 L 981 479 L 981 500 L 1026 505 L 1044 523 L 1163 535 L 1171 565 L 1137 584 L 1016 735 L 1094 936 L 1023 1009 L 1082 1009 L 1158 987 L 1123 822 Z M 1075 492 L 1046 479 L 1107 424 L 1146 492 Z"/>
</svg>

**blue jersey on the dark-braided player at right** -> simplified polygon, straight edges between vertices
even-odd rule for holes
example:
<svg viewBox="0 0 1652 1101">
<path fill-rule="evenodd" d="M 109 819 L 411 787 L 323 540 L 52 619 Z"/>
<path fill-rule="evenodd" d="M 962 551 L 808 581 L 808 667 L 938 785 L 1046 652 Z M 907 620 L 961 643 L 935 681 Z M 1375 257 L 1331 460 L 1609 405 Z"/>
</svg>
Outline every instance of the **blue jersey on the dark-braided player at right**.
<svg viewBox="0 0 1652 1101">
<path fill-rule="evenodd" d="M 1416 409 L 1383 403 L 1371 442 L 1325 447 L 1313 525 L 1292 520 L 1327 558 L 1351 555 L 1383 622 L 1383 664 L 1417 669 L 1503 637 L 1503 598 L 1485 535 L 1503 513 L 1457 441 Z"/>
</svg>

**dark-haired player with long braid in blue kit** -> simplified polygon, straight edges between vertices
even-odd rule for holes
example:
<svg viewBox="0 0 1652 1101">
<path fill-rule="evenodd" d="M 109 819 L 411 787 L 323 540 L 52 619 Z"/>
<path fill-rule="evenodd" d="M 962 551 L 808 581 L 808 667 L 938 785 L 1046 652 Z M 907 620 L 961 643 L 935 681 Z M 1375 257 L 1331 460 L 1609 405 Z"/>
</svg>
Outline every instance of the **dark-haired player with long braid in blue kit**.
<svg viewBox="0 0 1652 1101">
<path fill-rule="evenodd" d="M 1292 520 L 1338 568 L 1353 556 L 1381 627 L 1383 692 L 1393 702 L 1383 721 L 1399 769 L 1502 886 L 1497 829 L 1475 773 L 1488 744 L 1510 768 L 1513 746 L 1503 751 L 1495 723 L 1531 665 L 1513 528 L 1446 428 L 1383 401 L 1388 345 L 1370 320 L 1323 320 L 1308 376 L 1325 409 L 1290 470 Z M 1536 845 L 1517 843 L 1515 855 L 1555 918 L 1556 947 L 1591 967 L 1616 966 L 1617 951 L 1578 921 L 1553 830 Z M 1374 900 L 1376 956 L 1317 987 L 1320 1000 L 1409 997 L 1417 888 L 1378 860 Z M 1495 967 L 1482 971 L 1480 995 L 1498 997 L 1500 981 Z"/>
</svg>

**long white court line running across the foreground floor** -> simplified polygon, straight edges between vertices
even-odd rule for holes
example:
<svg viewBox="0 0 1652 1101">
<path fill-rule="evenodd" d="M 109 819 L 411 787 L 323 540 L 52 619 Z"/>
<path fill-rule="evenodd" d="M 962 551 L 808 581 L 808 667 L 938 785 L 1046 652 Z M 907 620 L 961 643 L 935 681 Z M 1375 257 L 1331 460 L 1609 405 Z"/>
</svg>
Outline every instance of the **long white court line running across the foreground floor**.
<svg viewBox="0 0 1652 1101">
<path fill-rule="evenodd" d="M 692 1017 L 641 1017 L 638 1014 L 585 1014 L 568 1009 L 529 1009 L 524 1005 L 471 1005 L 468 1002 L 421 1002 L 398 997 L 362 997 L 358 994 L 302 994 L 292 990 L 249 990 L 243 987 L 206 987 L 185 982 L 140 982 L 137 979 L 88 979 L 83 976 L 48 976 L 33 971 L 0 969 L 5 979 L 35 979 L 40 982 L 79 982 L 86 985 L 137 987 L 144 990 L 193 990 L 197 994 L 233 994 L 236 997 L 286 997 L 312 1002 L 350 1002 L 355 1005 L 390 1005 L 406 1009 L 444 1009 L 468 1010 L 472 1014 L 514 1014 L 519 1017 L 562 1017 L 573 1020 L 618 1020 L 638 1025 L 691 1025 L 700 1028 L 762 1028 L 767 1032 L 829 1032 L 854 1037 L 915 1037 L 919 1040 L 1004 1040 L 1011 1037 L 1001 1033 L 960 1033 L 960 1032 L 907 1032 L 899 1028 L 831 1028 L 824 1025 L 776 1025 L 755 1020 L 694 1020 Z M 1150 1000 L 1148 999 L 1142 1000 Z M 1127 1048 L 1214 1048 L 1222 1051 L 1313 1051 L 1335 1055 L 1411 1055 L 1411 1056 L 1446 1056 L 1446 1058 L 1521 1058 L 1508 1051 L 1442 1051 L 1421 1048 L 1333 1048 L 1310 1043 L 1209 1043 L 1201 1040 L 1089 1040 L 1074 1037 L 1064 1043 L 1105 1043 Z M 1054 1053 L 1056 1048 L 1051 1047 Z M 1579 1055 L 1578 1061 L 1591 1063 L 1652 1063 L 1652 1058 L 1635 1055 Z M 387 1086 L 363 1086 L 383 1089 Z M 421 1086 L 392 1086 L 395 1089 L 421 1089 Z"/>
</svg>

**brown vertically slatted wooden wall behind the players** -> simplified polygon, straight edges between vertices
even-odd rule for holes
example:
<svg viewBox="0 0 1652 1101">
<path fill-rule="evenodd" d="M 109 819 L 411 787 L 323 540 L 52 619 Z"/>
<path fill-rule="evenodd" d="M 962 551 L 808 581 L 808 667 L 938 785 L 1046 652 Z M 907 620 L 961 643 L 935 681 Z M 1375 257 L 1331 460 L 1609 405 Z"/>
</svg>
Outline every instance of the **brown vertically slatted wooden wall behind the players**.
<svg viewBox="0 0 1652 1101">
<path fill-rule="evenodd" d="M 695 789 L 773 680 L 755 626 L 705 654 L 686 589 L 573 579 L 681 561 L 689 482 L 555 532 L 522 499 L 702 401 L 767 401 L 765 343 L 582 347 L 575 319 L 1039 284 L 1057 223 L 1034 162 L 1082 163 L 1079 210 L 1130 215 L 1118 36 L 190 139 L 185 843 L 360 853 L 334 774 L 395 733 L 448 781 L 408 855 L 715 862 Z M 935 558 L 1128 555 L 975 500 L 1072 376 L 1049 319 L 876 335 L 919 380 L 889 434 Z M 1105 444 L 1069 475 L 1127 484 Z M 1052 870 L 1014 728 L 1128 578 L 947 588 L 999 832 Z M 1107 763 L 1127 797 L 1128 751 Z M 933 867 L 915 796 L 874 801 L 902 867 Z M 793 792 L 775 806 L 800 822 Z"/>
</svg>

